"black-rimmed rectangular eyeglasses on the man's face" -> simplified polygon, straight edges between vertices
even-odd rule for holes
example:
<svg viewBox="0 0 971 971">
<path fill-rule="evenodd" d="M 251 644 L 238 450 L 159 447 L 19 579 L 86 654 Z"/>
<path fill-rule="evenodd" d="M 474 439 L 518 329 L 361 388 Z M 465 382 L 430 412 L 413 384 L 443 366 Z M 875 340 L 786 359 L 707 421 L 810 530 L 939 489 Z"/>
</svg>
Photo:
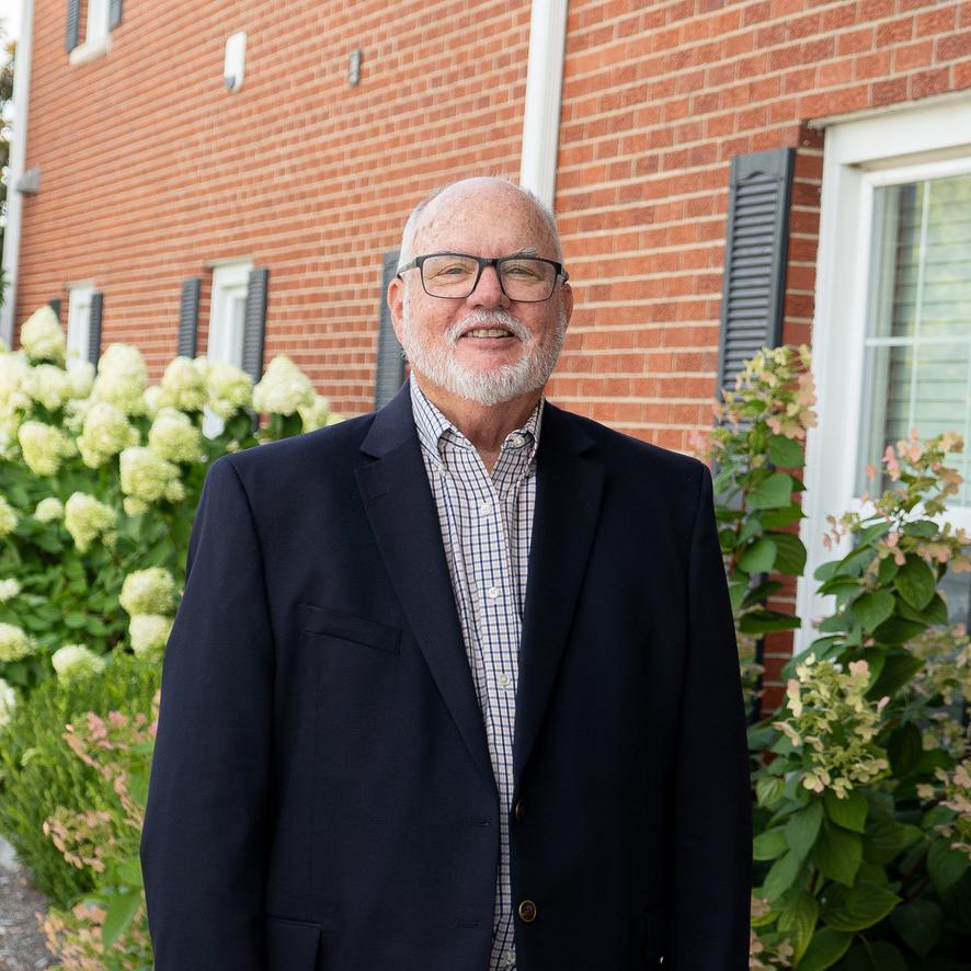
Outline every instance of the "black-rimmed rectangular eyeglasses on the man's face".
<svg viewBox="0 0 971 971">
<path fill-rule="evenodd" d="M 519 304 L 541 304 L 548 300 L 557 287 L 557 279 L 566 283 L 570 277 L 562 263 L 539 256 L 500 256 L 487 260 L 468 253 L 429 253 L 405 263 L 398 276 L 418 269 L 422 289 L 430 297 L 464 300 L 479 285 L 487 266 L 494 266 L 502 292 Z"/>
</svg>

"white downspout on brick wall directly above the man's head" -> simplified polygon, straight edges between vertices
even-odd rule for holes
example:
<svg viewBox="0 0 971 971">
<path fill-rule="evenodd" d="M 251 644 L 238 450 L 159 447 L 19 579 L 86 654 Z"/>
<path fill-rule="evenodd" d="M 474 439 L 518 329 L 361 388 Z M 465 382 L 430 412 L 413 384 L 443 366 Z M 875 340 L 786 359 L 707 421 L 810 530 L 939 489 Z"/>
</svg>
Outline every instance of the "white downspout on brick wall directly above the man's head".
<svg viewBox="0 0 971 971">
<path fill-rule="evenodd" d="M 533 0 L 519 183 L 550 208 L 557 187 L 569 0 Z"/>
</svg>

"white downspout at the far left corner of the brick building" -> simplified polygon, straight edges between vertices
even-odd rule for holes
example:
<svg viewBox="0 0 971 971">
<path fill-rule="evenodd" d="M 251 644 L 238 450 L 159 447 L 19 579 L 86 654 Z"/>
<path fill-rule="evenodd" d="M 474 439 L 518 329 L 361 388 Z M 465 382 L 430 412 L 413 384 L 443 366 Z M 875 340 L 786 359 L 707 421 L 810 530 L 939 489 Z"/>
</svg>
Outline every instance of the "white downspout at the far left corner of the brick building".
<svg viewBox="0 0 971 971">
<path fill-rule="evenodd" d="M 7 173 L 7 227 L 3 231 L 3 272 L 7 286 L 0 307 L 0 339 L 7 346 L 13 343 L 13 308 L 16 301 L 18 263 L 20 262 L 20 229 L 23 217 L 23 195 L 14 189 L 24 174 L 27 158 L 27 103 L 31 96 L 31 48 L 34 37 L 34 0 L 23 0 L 21 35 L 16 42 L 13 66 L 13 132 L 10 146 L 10 165 Z"/>
</svg>

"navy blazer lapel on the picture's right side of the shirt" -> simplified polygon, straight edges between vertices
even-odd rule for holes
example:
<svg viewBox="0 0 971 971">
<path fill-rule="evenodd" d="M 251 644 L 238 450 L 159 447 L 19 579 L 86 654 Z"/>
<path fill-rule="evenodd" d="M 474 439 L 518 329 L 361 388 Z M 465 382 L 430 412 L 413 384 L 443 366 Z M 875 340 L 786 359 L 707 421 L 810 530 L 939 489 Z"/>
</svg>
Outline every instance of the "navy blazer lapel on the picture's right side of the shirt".
<svg viewBox="0 0 971 971">
<path fill-rule="evenodd" d="M 518 786 L 573 622 L 599 518 L 603 467 L 570 415 L 547 404 L 537 453 L 536 515 L 519 651 L 513 770 Z"/>
</svg>

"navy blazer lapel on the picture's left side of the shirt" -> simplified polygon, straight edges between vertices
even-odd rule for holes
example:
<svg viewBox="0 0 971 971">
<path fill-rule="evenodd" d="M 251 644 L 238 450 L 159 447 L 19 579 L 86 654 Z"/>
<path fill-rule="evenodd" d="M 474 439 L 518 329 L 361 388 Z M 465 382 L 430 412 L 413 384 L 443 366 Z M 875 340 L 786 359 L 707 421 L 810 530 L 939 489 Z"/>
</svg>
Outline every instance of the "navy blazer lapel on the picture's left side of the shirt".
<svg viewBox="0 0 971 971">
<path fill-rule="evenodd" d="M 361 449 L 377 459 L 356 478 L 385 567 L 469 754 L 494 785 L 408 384 L 375 416 Z"/>
</svg>

